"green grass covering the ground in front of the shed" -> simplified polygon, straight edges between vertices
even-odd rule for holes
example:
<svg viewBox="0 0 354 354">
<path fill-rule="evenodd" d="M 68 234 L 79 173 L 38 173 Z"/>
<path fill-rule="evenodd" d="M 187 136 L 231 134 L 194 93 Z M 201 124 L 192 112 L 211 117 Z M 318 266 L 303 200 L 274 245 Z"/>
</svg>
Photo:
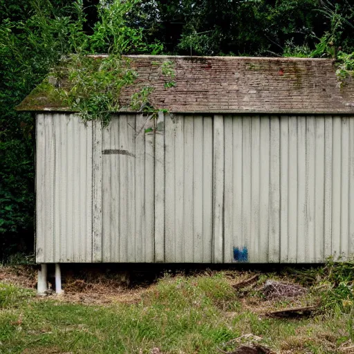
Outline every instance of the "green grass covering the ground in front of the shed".
<svg viewBox="0 0 354 354">
<path fill-rule="evenodd" d="M 259 315 L 263 305 L 290 303 L 236 292 L 227 272 L 165 276 L 136 303 L 105 306 L 39 299 L 35 290 L 0 283 L 0 353 L 222 353 L 218 348 L 232 352 L 232 339 L 248 333 L 277 353 L 353 353 L 353 311 Z"/>
</svg>

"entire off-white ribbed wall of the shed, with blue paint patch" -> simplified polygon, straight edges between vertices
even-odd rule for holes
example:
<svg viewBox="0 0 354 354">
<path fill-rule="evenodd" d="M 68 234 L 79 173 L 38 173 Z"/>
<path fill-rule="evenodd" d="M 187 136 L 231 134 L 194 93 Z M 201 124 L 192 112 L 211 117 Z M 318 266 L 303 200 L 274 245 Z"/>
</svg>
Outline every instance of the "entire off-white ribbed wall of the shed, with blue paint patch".
<svg viewBox="0 0 354 354">
<path fill-rule="evenodd" d="M 37 262 L 354 252 L 354 118 L 37 115 Z"/>
</svg>

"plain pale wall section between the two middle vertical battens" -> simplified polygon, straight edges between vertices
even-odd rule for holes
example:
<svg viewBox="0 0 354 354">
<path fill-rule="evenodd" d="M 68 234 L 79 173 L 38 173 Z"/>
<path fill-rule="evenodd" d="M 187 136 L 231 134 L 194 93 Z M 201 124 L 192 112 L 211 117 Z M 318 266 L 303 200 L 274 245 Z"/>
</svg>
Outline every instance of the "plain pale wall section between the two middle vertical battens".
<svg viewBox="0 0 354 354">
<path fill-rule="evenodd" d="M 212 136 L 212 118 L 165 117 L 166 262 L 212 261 Z"/>
</svg>

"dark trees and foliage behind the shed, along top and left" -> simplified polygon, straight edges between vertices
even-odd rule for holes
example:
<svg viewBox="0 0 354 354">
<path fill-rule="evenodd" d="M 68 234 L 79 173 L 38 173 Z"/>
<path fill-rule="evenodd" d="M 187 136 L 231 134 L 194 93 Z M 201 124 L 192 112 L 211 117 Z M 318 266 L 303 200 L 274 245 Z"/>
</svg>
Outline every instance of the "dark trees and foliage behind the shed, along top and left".
<svg viewBox="0 0 354 354">
<path fill-rule="evenodd" d="M 130 54 L 335 58 L 354 51 L 350 0 L 133 2 L 115 28 L 133 30 L 141 42 Z M 62 55 L 109 51 L 112 28 L 102 30 L 100 11 L 111 3 L 121 1 L 0 0 L 0 262 L 33 252 L 34 116 L 15 106 Z"/>
</svg>

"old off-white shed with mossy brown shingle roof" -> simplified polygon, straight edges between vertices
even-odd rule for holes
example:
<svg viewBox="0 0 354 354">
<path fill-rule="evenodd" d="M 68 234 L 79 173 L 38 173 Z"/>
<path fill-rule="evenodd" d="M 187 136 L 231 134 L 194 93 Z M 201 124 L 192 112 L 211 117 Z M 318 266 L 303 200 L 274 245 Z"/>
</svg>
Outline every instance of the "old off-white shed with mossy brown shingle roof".
<svg viewBox="0 0 354 354">
<path fill-rule="evenodd" d="M 38 90 L 19 106 L 36 112 L 37 263 L 353 254 L 354 81 L 332 59 L 128 57 L 108 127 Z M 156 124 L 129 108 L 151 84 Z"/>
</svg>

